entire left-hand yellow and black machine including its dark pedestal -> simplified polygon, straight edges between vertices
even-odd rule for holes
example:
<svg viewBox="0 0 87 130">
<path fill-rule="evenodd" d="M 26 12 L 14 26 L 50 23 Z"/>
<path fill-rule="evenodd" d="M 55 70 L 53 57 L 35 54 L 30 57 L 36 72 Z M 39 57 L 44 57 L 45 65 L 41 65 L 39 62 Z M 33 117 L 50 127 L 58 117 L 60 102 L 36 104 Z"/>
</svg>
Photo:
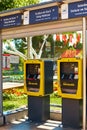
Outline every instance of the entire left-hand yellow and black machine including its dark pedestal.
<svg viewBox="0 0 87 130">
<path fill-rule="evenodd" d="M 29 119 L 36 122 L 49 119 L 50 94 L 53 93 L 53 61 L 26 60 L 24 90 L 28 95 Z"/>
</svg>

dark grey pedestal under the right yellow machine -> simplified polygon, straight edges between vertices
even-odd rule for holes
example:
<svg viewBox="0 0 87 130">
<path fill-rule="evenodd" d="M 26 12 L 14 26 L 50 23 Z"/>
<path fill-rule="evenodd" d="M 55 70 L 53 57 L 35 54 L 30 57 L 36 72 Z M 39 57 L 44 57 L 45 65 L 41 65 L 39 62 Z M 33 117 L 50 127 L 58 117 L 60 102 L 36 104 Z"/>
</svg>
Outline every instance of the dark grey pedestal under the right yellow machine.
<svg viewBox="0 0 87 130">
<path fill-rule="evenodd" d="M 80 128 L 81 100 L 62 99 L 62 123 L 63 127 Z"/>
</svg>

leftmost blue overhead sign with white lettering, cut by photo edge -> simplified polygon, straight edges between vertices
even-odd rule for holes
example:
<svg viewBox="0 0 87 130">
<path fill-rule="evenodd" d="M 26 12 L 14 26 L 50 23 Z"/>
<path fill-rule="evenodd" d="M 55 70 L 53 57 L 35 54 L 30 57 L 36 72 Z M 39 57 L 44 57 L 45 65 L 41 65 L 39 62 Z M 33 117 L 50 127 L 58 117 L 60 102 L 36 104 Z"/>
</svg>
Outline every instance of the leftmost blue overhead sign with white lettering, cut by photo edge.
<svg viewBox="0 0 87 130">
<path fill-rule="evenodd" d="M 13 14 L 0 18 L 0 28 L 19 26 L 22 24 L 21 14 Z"/>
</svg>

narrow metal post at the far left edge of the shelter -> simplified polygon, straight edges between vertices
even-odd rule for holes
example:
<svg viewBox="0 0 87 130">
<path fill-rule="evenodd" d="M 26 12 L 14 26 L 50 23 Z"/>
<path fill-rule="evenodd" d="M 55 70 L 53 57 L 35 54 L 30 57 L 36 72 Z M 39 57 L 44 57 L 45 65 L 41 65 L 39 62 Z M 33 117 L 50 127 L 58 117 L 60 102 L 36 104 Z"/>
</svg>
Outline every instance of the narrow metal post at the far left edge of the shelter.
<svg viewBox="0 0 87 130">
<path fill-rule="evenodd" d="M 0 36 L 0 116 L 3 115 L 3 103 L 2 103 L 2 40 Z"/>
</svg>

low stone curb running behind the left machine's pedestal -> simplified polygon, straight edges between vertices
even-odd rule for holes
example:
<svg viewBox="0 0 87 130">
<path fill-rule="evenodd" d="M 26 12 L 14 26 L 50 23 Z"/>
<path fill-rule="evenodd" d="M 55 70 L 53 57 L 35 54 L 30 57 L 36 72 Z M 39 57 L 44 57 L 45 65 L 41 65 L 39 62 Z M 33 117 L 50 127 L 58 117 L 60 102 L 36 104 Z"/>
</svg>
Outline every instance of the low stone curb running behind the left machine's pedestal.
<svg viewBox="0 0 87 130">
<path fill-rule="evenodd" d="M 0 118 L 0 125 L 7 124 L 7 123 L 12 123 L 14 121 L 18 121 L 20 119 L 25 119 L 28 117 L 28 108 L 19 108 L 16 110 L 10 110 L 7 112 L 4 112 L 4 121 L 3 117 Z M 61 121 L 61 112 L 60 111 L 51 111 L 50 112 L 50 119 L 56 120 L 56 121 Z"/>
</svg>

